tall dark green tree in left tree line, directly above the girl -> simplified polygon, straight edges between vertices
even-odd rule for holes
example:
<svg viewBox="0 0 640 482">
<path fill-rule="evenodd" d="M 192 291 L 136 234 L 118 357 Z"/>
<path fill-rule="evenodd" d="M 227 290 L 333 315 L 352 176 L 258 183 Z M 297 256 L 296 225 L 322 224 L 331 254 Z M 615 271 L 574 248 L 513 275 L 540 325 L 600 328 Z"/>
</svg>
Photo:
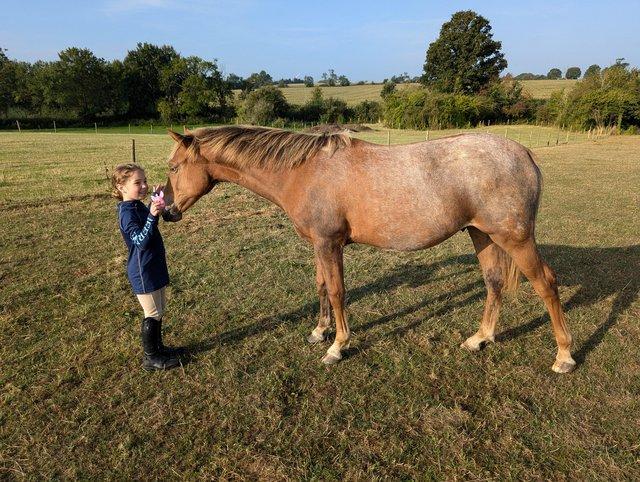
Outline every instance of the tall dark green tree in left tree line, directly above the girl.
<svg viewBox="0 0 640 482">
<path fill-rule="evenodd" d="M 138 43 L 135 50 L 127 52 L 123 63 L 130 118 L 157 115 L 157 103 L 164 95 L 160 86 L 161 72 L 177 57 L 178 53 L 169 45 L 158 47 Z"/>
</svg>

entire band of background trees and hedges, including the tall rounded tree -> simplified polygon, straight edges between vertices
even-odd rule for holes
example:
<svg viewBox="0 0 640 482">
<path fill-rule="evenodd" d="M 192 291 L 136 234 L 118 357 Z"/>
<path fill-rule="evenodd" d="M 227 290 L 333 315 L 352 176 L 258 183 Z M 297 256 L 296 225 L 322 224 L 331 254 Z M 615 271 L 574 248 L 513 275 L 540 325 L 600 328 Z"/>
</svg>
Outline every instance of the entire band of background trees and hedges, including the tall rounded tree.
<svg viewBox="0 0 640 482">
<path fill-rule="evenodd" d="M 105 123 L 161 118 L 165 122 L 377 122 L 396 128 L 466 127 L 477 123 L 541 121 L 588 129 L 640 125 L 640 75 L 624 59 L 590 66 L 572 90 L 548 101 L 532 99 L 518 78 L 501 77 L 507 60 L 489 21 L 466 10 L 442 25 L 427 51 L 420 77 L 385 79 L 379 101 L 348 106 L 316 89 L 302 106 L 287 103 L 289 84 L 338 86 L 350 80 L 329 69 L 313 77 L 274 79 L 261 70 L 224 76 L 217 61 L 181 56 L 171 46 L 139 43 L 123 60 L 105 61 L 88 49 L 69 48 L 54 62 L 10 60 L 0 49 L 0 114 Z M 579 78 L 570 67 L 567 78 Z M 518 77 L 534 75 L 521 74 Z M 546 78 L 560 78 L 553 68 Z M 416 82 L 397 89 L 399 83 Z M 278 88 L 279 87 L 279 88 Z M 236 96 L 234 91 L 240 91 Z M 2 123 L 2 119 L 0 119 Z"/>
</svg>

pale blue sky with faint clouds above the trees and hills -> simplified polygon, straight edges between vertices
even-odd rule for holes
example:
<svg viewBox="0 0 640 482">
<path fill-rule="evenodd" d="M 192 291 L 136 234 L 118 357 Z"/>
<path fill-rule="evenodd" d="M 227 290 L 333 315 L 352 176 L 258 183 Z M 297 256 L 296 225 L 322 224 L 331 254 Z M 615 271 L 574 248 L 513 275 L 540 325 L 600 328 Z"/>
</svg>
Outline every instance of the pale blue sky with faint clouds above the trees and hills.
<svg viewBox="0 0 640 482">
<path fill-rule="evenodd" d="M 426 50 L 459 10 L 487 18 L 505 72 L 546 74 L 624 57 L 640 65 L 640 0 L 257 1 L 0 0 L 0 47 L 15 60 L 56 60 L 68 47 L 124 59 L 138 42 L 217 59 L 225 74 L 274 79 L 333 69 L 352 81 L 422 74 Z"/>
</svg>

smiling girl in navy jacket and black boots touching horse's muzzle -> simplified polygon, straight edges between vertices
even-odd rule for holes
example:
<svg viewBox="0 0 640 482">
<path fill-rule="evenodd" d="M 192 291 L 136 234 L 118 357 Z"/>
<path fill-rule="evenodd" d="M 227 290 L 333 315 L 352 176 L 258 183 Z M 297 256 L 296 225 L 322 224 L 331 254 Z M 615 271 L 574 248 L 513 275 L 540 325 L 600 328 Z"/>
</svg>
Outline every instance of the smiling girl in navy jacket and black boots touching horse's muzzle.
<svg viewBox="0 0 640 482">
<path fill-rule="evenodd" d="M 170 349 L 162 344 L 162 315 L 169 284 L 167 260 L 162 236 L 158 230 L 158 216 L 164 211 L 164 200 L 155 198 L 145 206 L 142 199 L 149 186 L 144 169 L 137 164 L 121 164 L 111 178 L 113 196 L 118 203 L 118 223 L 129 249 L 127 276 L 144 310 L 141 338 L 142 367 L 145 370 L 167 370 L 180 364 L 182 349 Z M 162 186 L 154 187 L 159 192 Z"/>
</svg>

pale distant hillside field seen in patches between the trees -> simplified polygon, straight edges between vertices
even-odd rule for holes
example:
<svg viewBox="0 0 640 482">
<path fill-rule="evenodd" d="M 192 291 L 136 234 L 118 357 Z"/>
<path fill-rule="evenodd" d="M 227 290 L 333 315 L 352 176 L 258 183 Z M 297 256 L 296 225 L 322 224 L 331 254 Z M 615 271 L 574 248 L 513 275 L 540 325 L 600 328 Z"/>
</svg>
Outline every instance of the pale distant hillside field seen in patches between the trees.
<svg viewBox="0 0 640 482">
<path fill-rule="evenodd" d="M 524 91 L 534 99 L 548 99 L 557 90 L 570 89 L 576 83 L 575 80 L 524 80 L 521 81 Z M 398 89 L 406 89 L 418 84 L 398 84 Z M 344 100 L 348 105 L 355 105 L 363 100 L 380 101 L 382 84 L 349 85 L 347 87 L 321 87 L 325 98 L 335 97 Z M 313 89 L 303 84 L 292 84 L 285 87 L 282 93 L 290 104 L 304 104 L 311 99 Z M 240 91 L 236 92 L 236 95 Z"/>
</svg>

